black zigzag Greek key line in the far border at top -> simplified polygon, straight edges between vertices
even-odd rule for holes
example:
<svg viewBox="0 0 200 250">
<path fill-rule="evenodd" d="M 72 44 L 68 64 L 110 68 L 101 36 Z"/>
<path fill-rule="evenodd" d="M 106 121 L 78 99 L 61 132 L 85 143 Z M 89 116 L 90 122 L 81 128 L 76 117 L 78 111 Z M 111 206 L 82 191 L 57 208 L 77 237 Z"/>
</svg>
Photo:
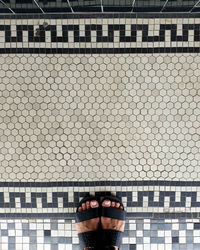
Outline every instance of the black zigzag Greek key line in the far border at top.
<svg viewBox="0 0 200 250">
<path fill-rule="evenodd" d="M 126 36 L 126 25 L 123 24 L 108 24 L 108 36 L 103 36 L 102 25 L 85 25 L 85 36 L 80 36 L 79 25 L 62 25 L 62 36 L 57 36 L 57 26 L 48 25 L 44 28 L 43 25 L 39 25 L 37 30 L 38 36 L 34 36 L 34 26 L 33 25 L 17 25 L 16 32 L 17 36 L 11 36 L 11 25 L 0 25 L 0 31 L 5 31 L 5 42 L 23 42 L 23 31 L 28 31 L 28 42 L 46 42 L 46 31 L 51 33 L 51 42 L 69 42 L 69 31 L 73 31 L 74 42 L 91 42 L 91 31 L 96 31 L 96 42 L 114 42 L 114 32 L 119 31 L 119 42 L 136 42 L 138 38 L 138 31 L 142 31 L 142 42 L 165 42 L 166 31 L 171 32 L 171 41 L 188 41 L 189 31 L 194 31 L 194 41 L 200 41 L 200 24 L 183 24 L 182 33 L 183 35 L 177 35 L 177 25 L 176 24 L 160 24 L 159 36 L 149 36 L 149 25 L 148 24 L 132 24 L 131 35 Z"/>
</svg>

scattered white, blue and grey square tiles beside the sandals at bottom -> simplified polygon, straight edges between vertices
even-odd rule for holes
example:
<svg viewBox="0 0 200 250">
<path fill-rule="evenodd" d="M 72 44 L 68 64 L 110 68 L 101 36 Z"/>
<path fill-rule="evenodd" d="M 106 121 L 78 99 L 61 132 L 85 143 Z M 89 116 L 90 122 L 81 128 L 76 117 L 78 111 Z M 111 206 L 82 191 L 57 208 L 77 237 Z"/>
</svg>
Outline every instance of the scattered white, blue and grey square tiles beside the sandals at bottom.
<svg viewBox="0 0 200 250">
<path fill-rule="evenodd" d="M 122 250 L 197 250 L 200 220 L 126 220 Z M 2 250 L 78 250 L 75 220 L 0 220 Z"/>
</svg>

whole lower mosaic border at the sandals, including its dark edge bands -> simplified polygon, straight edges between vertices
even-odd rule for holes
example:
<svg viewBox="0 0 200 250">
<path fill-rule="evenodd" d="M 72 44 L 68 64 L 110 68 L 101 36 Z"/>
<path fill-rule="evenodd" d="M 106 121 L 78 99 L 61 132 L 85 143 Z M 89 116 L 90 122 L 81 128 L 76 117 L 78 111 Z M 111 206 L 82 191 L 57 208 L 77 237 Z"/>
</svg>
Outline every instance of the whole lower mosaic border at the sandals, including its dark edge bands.
<svg viewBox="0 0 200 250">
<path fill-rule="evenodd" d="M 0 187 L 2 218 L 73 218 L 79 201 L 86 194 L 104 197 L 110 193 L 122 197 L 130 218 L 200 217 L 200 182 L 155 181 L 151 185 L 144 185 L 143 181 L 3 184 Z"/>
</svg>

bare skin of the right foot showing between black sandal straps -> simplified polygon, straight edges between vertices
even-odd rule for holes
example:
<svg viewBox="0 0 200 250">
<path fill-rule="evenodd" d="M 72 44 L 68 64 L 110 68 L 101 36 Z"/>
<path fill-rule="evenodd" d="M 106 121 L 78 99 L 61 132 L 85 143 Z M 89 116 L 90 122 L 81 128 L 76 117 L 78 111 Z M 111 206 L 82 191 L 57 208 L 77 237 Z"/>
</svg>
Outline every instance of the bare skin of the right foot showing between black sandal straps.
<svg viewBox="0 0 200 250">
<path fill-rule="evenodd" d="M 120 210 L 124 209 L 122 206 L 120 206 L 119 202 L 110 201 L 108 199 L 102 203 L 102 206 L 114 207 Z M 102 229 L 109 229 L 109 230 L 116 230 L 116 231 L 124 232 L 125 221 L 101 216 L 101 226 L 102 226 Z M 114 247 L 116 250 L 119 249 L 117 246 L 114 246 Z"/>
</svg>

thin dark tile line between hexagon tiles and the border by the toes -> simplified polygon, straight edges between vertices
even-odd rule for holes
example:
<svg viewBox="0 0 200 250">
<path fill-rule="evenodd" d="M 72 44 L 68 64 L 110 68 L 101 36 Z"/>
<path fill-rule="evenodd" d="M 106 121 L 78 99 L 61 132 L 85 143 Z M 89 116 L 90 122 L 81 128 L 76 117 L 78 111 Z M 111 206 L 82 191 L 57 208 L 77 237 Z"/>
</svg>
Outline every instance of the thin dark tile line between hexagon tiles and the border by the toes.
<svg viewBox="0 0 200 250">
<path fill-rule="evenodd" d="M 200 181 L 67 181 L 67 182 L 0 182 L 0 187 L 96 187 L 96 186 L 189 186 Z"/>
</svg>

